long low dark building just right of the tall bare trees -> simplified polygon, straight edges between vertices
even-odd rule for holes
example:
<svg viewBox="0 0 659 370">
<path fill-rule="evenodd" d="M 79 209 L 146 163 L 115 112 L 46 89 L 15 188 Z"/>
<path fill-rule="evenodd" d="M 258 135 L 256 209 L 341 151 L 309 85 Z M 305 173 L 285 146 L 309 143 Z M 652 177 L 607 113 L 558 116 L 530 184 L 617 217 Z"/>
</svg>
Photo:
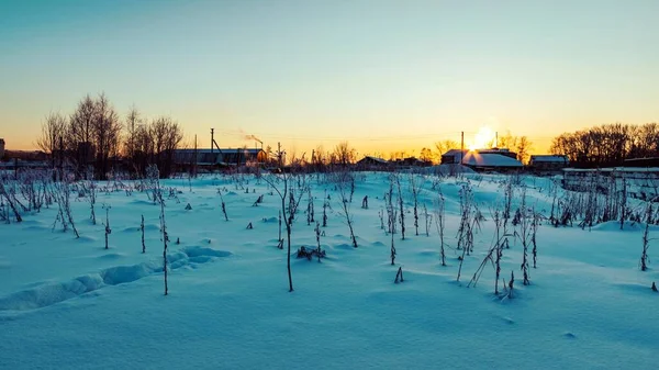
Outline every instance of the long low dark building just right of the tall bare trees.
<svg viewBox="0 0 659 370">
<path fill-rule="evenodd" d="M 268 155 L 263 149 L 176 149 L 174 162 L 179 168 L 197 166 L 198 168 L 241 167 L 252 164 L 265 164 Z"/>
</svg>

